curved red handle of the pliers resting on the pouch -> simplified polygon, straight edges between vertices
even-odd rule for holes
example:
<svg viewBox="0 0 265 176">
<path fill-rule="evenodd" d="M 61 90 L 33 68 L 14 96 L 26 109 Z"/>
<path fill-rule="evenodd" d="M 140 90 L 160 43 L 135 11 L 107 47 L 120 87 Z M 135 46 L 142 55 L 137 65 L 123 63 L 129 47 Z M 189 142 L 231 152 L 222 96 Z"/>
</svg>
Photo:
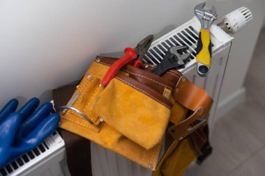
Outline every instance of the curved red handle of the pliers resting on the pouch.
<svg viewBox="0 0 265 176">
<path fill-rule="evenodd" d="M 107 73 L 105 74 L 105 76 L 101 80 L 102 86 L 106 87 L 107 84 L 109 84 L 109 81 L 111 81 L 112 78 L 115 77 L 117 72 L 119 72 L 121 67 L 123 67 L 124 65 L 126 65 L 127 63 L 132 61 L 133 59 L 137 58 L 137 53 L 136 53 L 135 49 L 127 47 L 126 49 L 124 49 L 124 52 L 125 52 L 125 55 L 123 57 L 119 58 L 119 60 L 116 61 L 114 64 L 112 64 L 112 66 L 109 67 L 109 70 L 107 70 Z"/>
</svg>

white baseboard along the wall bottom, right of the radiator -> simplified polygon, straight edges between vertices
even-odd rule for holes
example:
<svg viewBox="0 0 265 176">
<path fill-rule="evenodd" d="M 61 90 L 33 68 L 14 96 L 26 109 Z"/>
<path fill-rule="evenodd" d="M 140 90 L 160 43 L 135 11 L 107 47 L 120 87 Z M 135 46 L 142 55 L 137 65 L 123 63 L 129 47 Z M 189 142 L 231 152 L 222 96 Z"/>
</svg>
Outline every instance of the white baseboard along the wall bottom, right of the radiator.
<svg viewBox="0 0 265 176">
<path fill-rule="evenodd" d="M 215 122 L 245 99 L 245 88 L 236 90 L 232 95 L 219 102 L 215 112 Z"/>
</svg>

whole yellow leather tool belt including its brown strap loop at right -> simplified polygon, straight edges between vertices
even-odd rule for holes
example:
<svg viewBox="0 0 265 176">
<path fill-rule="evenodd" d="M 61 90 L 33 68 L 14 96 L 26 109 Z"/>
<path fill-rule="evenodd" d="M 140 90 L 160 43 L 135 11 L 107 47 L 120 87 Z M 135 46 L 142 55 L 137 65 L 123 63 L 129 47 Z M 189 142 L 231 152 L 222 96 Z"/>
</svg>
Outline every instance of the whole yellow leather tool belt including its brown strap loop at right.
<svg viewBox="0 0 265 176">
<path fill-rule="evenodd" d="M 153 65 L 126 65 L 103 87 L 100 81 L 115 61 L 96 57 L 68 104 L 59 108 L 60 127 L 149 170 L 159 168 L 154 175 L 163 167 L 165 173 L 173 167 L 166 161 L 177 157 L 175 150 L 192 151 L 187 138 L 206 125 L 213 100 L 176 70 L 152 74 Z M 174 140 L 158 159 L 165 131 Z M 193 160 L 197 153 L 191 153 Z"/>
</svg>

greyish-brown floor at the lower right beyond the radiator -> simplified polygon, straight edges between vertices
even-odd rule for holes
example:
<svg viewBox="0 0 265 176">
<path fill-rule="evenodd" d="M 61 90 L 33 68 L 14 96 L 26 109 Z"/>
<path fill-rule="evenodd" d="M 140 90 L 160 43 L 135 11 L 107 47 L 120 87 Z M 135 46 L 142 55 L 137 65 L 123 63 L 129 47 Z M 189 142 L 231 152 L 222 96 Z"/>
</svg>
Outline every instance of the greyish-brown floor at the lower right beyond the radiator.
<svg viewBox="0 0 265 176">
<path fill-rule="evenodd" d="M 265 30 L 245 79 L 245 102 L 215 123 L 213 154 L 187 176 L 265 175 Z"/>
</svg>

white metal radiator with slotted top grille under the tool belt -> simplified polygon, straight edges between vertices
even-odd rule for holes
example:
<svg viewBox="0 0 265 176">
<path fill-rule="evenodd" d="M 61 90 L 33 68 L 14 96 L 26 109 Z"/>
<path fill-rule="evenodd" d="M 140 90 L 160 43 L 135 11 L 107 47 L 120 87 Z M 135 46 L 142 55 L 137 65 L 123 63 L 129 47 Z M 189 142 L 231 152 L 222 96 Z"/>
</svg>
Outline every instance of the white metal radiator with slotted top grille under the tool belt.
<svg viewBox="0 0 265 176">
<path fill-rule="evenodd" d="M 169 47 L 176 45 L 189 47 L 191 59 L 185 65 L 185 68 L 180 71 L 190 81 L 204 88 L 213 97 L 214 104 L 209 117 L 211 133 L 215 122 L 215 110 L 218 104 L 220 88 L 222 87 L 222 79 L 225 74 L 225 67 L 229 58 L 233 38 L 215 24 L 211 26 L 211 42 L 213 44 L 211 71 L 207 77 L 202 78 L 197 75 L 195 63 L 195 48 L 197 46 L 199 29 L 199 21 L 196 17 L 192 18 L 190 21 L 154 41 L 144 60 L 158 64 L 162 60 L 162 57 L 165 56 L 165 52 Z M 91 157 L 93 176 L 151 175 L 151 171 L 95 143 L 91 143 Z M 9 163 L 8 166 L 0 170 L 0 176 L 5 175 L 70 175 L 66 164 L 66 152 L 61 136 L 55 132 L 42 145 L 37 147 L 36 150 Z"/>
</svg>

